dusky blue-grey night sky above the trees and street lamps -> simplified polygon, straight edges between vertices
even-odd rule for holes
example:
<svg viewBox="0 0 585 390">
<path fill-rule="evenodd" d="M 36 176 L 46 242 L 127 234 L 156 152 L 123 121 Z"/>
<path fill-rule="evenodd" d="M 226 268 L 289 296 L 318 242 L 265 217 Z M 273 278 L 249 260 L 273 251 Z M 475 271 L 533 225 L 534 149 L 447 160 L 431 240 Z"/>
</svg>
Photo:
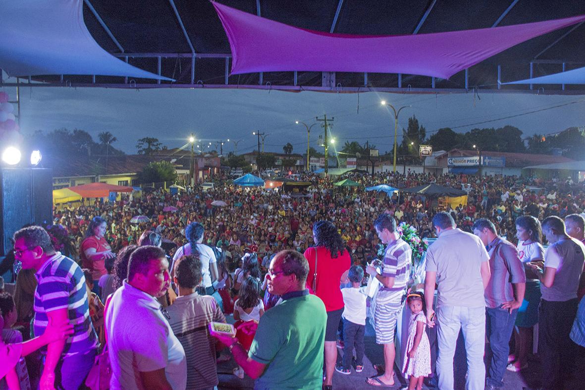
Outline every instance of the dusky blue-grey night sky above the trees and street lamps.
<svg viewBox="0 0 585 390">
<path fill-rule="evenodd" d="M 15 88 L 4 88 L 15 98 Z M 112 146 L 126 153 L 136 153 L 136 141 L 144 136 L 159 138 L 168 148 L 184 145 L 194 132 L 200 145 L 223 139 L 241 139 L 238 153 L 250 152 L 257 145 L 253 131 L 269 134 L 265 150 L 282 152 L 292 143 L 294 153 L 307 148 L 307 131 L 295 120 L 311 125 L 315 117 L 335 117 L 332 133 L 337 145 L 345 141 L 370 141 L 383 153 L 392 146 L 394 125 L 389 109 L 380 105 L 386 100 L 396 106 L 412 105 L 402 110 L 400 128 L 408 117 L 416 115 L 429 135 L 442 127 L 476 124 L 491 119 L 542 110 L 566 102 L 579 101 L 559 108 L 543 110 L 515 118 L 456 128 L 466 132 L 474 127 L 517 126 L 524 136 L 550 134 L 570 126 L 585 126 L 585 98 L 582 96 L 491 94 L 406 95 L 374 92 L 357 94 L 304 91 L 257 91 L 235 89 L 151 89 L 116 90 L 105 88 L 22 88 L 23 134 L 42 129 L 83 129 L 94 136 L 109 131 L 118 138 Z M 358 112 L 359 108 L 359 112 Z M 398 108 L 398 107 L 397 107 Z M 322 128 L 311 130 L 311 144 L 316 146 Z M 225 145 L 224 152 L 234 149 Z M 209 150 L 209 149 L 208 149 Z"/>
</svg>

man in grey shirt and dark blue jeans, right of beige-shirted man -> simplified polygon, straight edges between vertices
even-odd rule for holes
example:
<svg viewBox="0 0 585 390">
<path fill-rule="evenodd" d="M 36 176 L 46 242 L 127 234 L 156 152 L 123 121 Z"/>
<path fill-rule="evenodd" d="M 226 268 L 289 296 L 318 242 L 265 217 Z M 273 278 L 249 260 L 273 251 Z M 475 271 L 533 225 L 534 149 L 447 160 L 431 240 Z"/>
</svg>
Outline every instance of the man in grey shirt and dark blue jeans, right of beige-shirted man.
<svg viewBox="0 0 585 390">
<path fill-rule="evenodd" d="M 480 218 L 473 224 L 473 234 L 480 238 L 490 255 L 490 282 L 487 284 L 486 332 L 490 341 L 490 373 L 486 390 L 504 386 L 502 379 L 508 364 L 510 337 L 518 308 L 524 300 L 526 273 L 518 257 L 518 249 L 510 241 L 498 237 L 490 220 Z"/>
</svg>

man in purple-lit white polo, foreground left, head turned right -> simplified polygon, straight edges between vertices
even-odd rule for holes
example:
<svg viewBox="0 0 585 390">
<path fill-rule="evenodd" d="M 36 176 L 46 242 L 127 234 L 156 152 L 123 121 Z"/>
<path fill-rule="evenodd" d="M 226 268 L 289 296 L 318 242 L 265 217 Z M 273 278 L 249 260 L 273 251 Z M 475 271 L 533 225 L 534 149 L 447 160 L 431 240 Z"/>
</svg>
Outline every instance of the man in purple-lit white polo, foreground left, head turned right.
<svg viewBox="0 0 585 390">
<path fill-rule="evenodd" d="M 163 249 L 147 245 L 132 252 L 128 279 L 106 310 L 112 390 L 187 386 L 185 351 L 157 301 L 170 283 Z"/>
</svg>

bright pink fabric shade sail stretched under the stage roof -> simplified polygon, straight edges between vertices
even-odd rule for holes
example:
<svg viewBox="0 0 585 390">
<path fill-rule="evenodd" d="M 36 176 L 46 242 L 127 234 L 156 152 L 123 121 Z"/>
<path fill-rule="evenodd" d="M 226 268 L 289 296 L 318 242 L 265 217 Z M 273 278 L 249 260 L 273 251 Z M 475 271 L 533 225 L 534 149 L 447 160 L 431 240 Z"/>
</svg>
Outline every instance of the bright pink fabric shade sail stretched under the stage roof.
<svg viewBox="0 0 585 390">
<path fill-rule="evenodd" d="M 266 71 L 405 73 L 449 78 L 585 15 L 477 30 L 357 36 L 288 26 L 213 2 L 232 50 L 232 74 Z"/>
</svg>

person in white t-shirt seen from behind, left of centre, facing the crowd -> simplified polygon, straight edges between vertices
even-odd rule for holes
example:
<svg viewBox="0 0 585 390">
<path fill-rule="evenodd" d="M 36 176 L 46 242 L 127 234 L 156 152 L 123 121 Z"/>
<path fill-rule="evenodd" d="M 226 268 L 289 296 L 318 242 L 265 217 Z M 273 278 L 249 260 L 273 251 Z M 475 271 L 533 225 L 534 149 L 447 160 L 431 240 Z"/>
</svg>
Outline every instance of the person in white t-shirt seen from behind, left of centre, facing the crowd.
<svg viewBox="0 0 585 390">
<path fill-rule="evenodd" d="M 173 263 L 182 256 L 190 255 L 193 252 L 193 247 L 195 247 L 195 250 L 199 252 L 199 260 L 201 260 L 201 272 L 203 273 L 202 286 L 205 287 L 205 293 L 207 295 L 212 295 L 215 291 L 213 282 L 218 279 L 218 266 L 214 250 L 208 245 L 202 244 L 204 232 L 205 229 L 202 224 L 197 222 L 190 223 L 185 228 L 185 238 L 187 238 L 189 243 L 177 249 L 177 252 L 173 256 Z M 172 272 L 173 269 L 171 268 Z"/>
</svg>

